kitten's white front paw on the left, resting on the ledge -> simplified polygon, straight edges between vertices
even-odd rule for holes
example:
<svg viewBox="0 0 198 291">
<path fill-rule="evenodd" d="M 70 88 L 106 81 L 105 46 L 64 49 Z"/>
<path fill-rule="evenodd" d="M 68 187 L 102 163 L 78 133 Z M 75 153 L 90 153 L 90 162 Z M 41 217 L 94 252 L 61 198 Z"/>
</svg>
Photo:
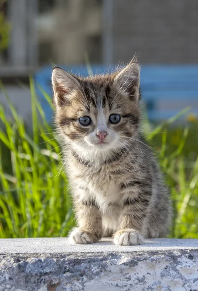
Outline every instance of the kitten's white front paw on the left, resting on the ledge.
<svg viewBox="0 0 198 291">
<path fill-rule="evenodd" d="M 78 227 L 75 227 L 69 235 L 70 243 L 86 244 L 98 241 L 99 237 L 95 233 L 84 232 Z"/>
</svg>

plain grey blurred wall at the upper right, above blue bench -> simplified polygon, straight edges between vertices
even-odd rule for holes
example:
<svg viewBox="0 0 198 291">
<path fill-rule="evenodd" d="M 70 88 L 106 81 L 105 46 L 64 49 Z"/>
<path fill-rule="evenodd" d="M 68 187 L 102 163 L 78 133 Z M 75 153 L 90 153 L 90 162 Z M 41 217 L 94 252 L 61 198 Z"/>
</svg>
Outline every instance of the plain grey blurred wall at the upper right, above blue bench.
<svg viewBox="0 0 198 291">
<path fill-rule="evenodd" d="M 198 63 L 198 0 L 113 0 L 112 60 Z"/>
</svg>

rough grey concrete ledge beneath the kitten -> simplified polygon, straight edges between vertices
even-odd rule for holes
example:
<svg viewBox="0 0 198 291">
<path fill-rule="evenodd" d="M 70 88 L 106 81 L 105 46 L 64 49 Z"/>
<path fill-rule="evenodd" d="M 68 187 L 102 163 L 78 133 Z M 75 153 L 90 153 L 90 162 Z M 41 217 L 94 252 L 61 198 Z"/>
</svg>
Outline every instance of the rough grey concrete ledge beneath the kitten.
<svg viewBox="0 0 198 291">
<path fill-rule="evenodd" d="M 0 240 L 0 291 L 198 291 L 198 240 Z"/>
</svg>

